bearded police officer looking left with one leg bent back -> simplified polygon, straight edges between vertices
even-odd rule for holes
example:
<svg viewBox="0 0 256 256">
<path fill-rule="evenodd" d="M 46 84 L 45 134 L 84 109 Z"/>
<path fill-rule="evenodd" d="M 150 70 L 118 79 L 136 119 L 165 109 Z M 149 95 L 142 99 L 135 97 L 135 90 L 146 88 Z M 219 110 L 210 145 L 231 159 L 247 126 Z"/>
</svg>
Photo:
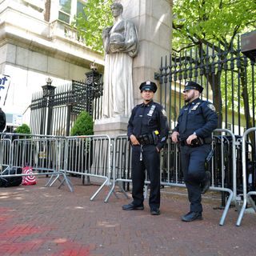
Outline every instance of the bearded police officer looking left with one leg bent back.
<svg viewBox="0 0 256 256">
<path fill-rule="evenodd" d="M 201 194 L 210 186 L 205 162 L 211 150 L 211 133 L 218 126 L 218 115 L 212 103 L 199 98 L 202 90 L 197 82 L 186 82 L 183 92 L 187 104 L 182 107 L 171 135 L 173 142 L 180 142 L 182 170 L 190 201 L 190 212 L 182 216 L 184 222 L 202 219 Z"/>
</svg>

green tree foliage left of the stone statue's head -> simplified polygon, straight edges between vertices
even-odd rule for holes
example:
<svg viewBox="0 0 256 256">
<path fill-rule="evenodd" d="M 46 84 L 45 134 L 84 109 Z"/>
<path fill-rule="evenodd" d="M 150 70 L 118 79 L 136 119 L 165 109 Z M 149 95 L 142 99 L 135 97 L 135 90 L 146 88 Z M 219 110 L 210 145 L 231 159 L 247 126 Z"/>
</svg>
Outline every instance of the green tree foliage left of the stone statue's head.
<svg viewBox="0 0 256 256">
<path fill-rule="evenodd" d="M 80 37 L 86 39 L 86 46 L 103 52 L 102 30 L 113 24 L 110 5 L 113 0 L 88 0 L 84 13 L 75 17 L 73 26 Z M 86 18 L 85 18 L 86 17 Z"/>
</svg>

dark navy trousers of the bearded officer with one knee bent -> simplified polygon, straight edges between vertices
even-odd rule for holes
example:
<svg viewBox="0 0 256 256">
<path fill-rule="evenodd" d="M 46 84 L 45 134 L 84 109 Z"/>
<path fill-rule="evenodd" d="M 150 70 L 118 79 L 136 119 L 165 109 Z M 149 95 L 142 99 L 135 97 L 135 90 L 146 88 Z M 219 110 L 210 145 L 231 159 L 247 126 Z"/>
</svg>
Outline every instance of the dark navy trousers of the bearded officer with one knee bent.
<svg viewBox="0 0 256 256">
<path fill-rule="evenodd" d="M 202 213 L 201 182 L 206 178 L 206 156 L 210 144 L 197 147 L 181 146 L 181 162 L 184 181 L 190 201 L 190 211 Z"/>
</svg>

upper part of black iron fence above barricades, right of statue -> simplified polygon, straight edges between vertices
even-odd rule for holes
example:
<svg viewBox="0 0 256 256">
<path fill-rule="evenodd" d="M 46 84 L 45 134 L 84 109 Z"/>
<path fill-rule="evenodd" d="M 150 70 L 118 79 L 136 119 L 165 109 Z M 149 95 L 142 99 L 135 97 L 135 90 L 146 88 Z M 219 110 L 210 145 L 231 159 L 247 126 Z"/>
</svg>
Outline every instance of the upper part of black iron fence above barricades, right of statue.
<svg viewBox="0 0 256 256">
<path fill-rule="evenodd" d="M 214 103 L 218 128 L 242 135 L 255 126 L 255 60 L 242 54 L 240 41 L 234 46 L 202 45 L 161 60 L 160 101 L 166 107 L 171 128 L 184 105 L 182 91 L 186 81 L 204 86 L 202 98 Z"/>
</svg>

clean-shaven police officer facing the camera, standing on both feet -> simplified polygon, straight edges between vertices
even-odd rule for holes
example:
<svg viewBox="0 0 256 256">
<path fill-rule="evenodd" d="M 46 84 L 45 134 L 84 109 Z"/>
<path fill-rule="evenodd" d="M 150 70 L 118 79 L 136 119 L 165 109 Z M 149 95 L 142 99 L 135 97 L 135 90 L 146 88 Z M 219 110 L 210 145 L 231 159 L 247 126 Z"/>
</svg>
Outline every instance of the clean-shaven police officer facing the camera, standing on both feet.
<svg viewBox="0 0 256 256">
<path fill-rule="evenodd" d="M 122 206 L 123 210 L 144 210 L 143 187 L 150 178 L 150 213 L 160 214 L 160 150 L 169 132 L 166 111 L 153 101 L 158 89 L 154 82 L 142 82 L 139 86 L 143 103 L 134 107 L 128 122 L 127 134 L 132 145 L 132 196 L 133 202 Z"/>
</svg>

